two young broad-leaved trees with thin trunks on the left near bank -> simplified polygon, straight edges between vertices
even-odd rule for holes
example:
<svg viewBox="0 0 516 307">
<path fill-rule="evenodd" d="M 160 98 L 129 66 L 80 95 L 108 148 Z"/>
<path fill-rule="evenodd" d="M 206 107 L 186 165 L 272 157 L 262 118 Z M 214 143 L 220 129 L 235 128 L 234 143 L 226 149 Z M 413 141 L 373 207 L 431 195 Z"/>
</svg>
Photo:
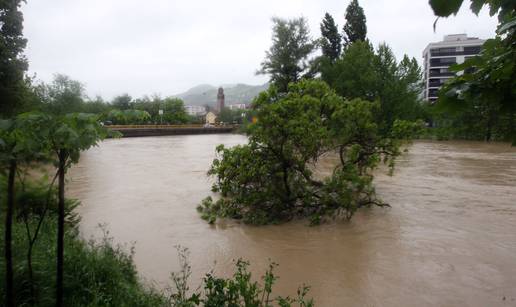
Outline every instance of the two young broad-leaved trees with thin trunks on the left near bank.
<svg viewBox="0 0 516 307">
<path fill-rule="evenodd" d="M 13 285 L 12 266 L 12 225 L 15 211 L 15 175 L 22 164 L 30 164 L 41 160 L 42 157 L 55 162 L 59 175 L 58 195 L 58 236 L 57 236 L 57 305 L 62 303 L 63 259 L 64 259 L 64 224 L 66 218 L 66 201 L 64 198 L 64 177 L 71 164 L 79 159 L 80 152 L 96 145 L 107 135 L 96 116 L 89 114 L 68 114 L 65 116 L 50 116 L 41 113 L 26 113 L 11 120 L 4 120 L 0 125 L 0 163 L 9 165 L 7 184 L 7 207 L 5 212 L 5 261 L 6 283 Z M 57 175 L 56 175 L 57 176 Z M 23 183 L 23 181 L 22 181 Z M 50 184 L 49 193 L 54 181 Z M 33 208 L 34 209 L 34 208 Z M 23 214 L 29 241 L 27 262 L 30 272 L 30 289 L 33 294 L 32 278 L 32 249 L 48 209 L 48 199 L 45 208 L 39 214 L 34 235 L 28 224 L 29 216 Z M 28 209 L 24 210 L 28 212 Z M 12 288 L 7 289 L 6 303 L 13 306 Z M 33 295 L 32 295 L 33 296 Z"/>
</svg>

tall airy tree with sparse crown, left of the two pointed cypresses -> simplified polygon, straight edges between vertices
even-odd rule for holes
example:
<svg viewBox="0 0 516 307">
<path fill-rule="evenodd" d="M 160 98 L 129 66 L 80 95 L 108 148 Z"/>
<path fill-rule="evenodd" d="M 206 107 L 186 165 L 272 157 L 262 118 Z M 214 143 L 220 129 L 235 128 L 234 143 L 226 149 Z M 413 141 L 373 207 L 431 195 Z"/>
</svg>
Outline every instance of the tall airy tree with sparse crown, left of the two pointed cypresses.
<svg viewBox="0 0 516 307">
<path fill-rule="evenodd" d="M 272 46 L 265 52 L 258 74 L 270 75 L 280 92 L 309 73 L 309 56 L 315 50 L 306 19 L 273 18 Z"/>
</svg>

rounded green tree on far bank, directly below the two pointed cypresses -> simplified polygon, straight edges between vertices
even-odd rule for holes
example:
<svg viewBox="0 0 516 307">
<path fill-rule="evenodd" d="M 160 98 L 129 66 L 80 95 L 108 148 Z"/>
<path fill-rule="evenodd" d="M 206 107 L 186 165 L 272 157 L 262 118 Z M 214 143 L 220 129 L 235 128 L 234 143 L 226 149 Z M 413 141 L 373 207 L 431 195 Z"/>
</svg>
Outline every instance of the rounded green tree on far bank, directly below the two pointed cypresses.
<svg viewBox="0 0 516 307">
<path fill-rule="evenodd" d="M 321 78 L 339 95 L 380 102 L 376 122 L 388 133 L 396 119 L 421 118 L 422 73 L 417 60 L 398 62 L 385 44 L 373 50 L 368 42 L 349 45 L 335 63 L 321 66 Z"/>
</svg>

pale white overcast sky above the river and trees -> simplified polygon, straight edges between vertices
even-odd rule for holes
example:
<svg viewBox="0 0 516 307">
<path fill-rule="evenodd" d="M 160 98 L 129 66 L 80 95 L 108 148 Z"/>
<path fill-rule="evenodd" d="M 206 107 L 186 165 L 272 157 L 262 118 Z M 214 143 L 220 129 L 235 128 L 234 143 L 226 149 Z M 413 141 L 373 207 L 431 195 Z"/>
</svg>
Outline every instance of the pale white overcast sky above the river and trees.
<svg viewBox="0 0 516 307">
<path fill-rule="evenodd" d="M 43 81 L 61 73 L 90 96 L 163 96 L 198 84 L 262 84 L 256 76 L 271 42 L 271 17 L 304 16 L 320 35 L 325 12 L 339 29 L 350 0 L 28 0 L 23 6 L 30 73 Z M 469 4 L 469 1 L 466 1 Z M 496 19 L 464 6 L 435 20 L 427 0 L 360 0 L 367 35 L 396 56 L 421 61 L 429 42 L 445 34 L 494 36 Z"/>
</svg>

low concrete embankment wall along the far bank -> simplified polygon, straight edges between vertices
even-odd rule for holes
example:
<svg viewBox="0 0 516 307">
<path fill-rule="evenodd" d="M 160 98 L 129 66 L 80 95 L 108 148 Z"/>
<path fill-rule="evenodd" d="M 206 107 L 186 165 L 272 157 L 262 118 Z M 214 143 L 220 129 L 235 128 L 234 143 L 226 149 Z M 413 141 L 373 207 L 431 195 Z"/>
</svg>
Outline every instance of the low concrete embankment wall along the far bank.
<svg viewBox="0 0 516 307">
<path fill-rule="evenodd" d="M 186 135 L 186 134 L 215 134 L 231 133 L 235 127 L 175 127 L 175 128 L 120 128 L 109 127 L 110 130 L 122 133 L 124 137 Z"/>
</svg>

